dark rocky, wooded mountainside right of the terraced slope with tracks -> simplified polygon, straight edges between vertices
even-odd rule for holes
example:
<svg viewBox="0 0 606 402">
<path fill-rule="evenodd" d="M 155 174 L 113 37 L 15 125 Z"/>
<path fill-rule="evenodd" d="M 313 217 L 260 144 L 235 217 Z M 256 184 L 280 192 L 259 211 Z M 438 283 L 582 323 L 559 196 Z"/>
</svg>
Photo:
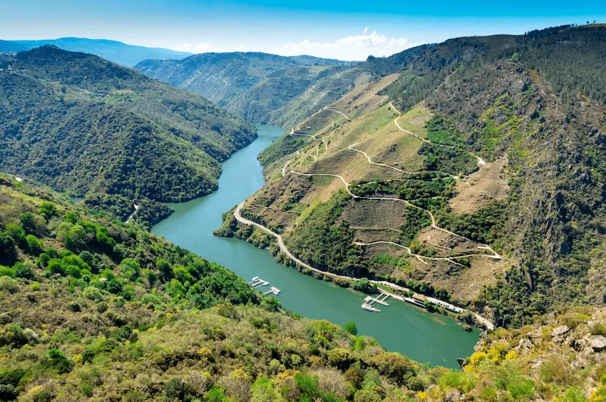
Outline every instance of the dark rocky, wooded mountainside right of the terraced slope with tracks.
<svg viewBox="0 0 606 402">
<path fill-rule="evenodd" d="M 474 152 L 508 158 L 509 196 L 497 218 L 508 223 L 498 237 L 514 258 L 505 282 L 477 304 L 499 324 L 518 326 L 554 306 L 605 300 L 598 183 L 606 180 L 606 28 L 561 26 L 498 39 L 471 61 L 447 61 L 388 93 L 399 91 L 404 107 L 428 93 L 429 107 L 450 116 Z M 451 71 L 435 91 L 435 84 L 416 85 Z"/>
</svg>

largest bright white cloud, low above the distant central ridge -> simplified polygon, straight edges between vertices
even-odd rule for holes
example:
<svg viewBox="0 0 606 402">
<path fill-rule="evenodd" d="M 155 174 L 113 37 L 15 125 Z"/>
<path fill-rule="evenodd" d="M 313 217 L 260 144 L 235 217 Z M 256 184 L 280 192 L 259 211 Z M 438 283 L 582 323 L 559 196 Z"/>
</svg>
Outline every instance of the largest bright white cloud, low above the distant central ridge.
<svg viewBox="0 0 606 402">
<path fill-rule="evenodd" d="M 389 38 L 385 35 L 379 35 L 376 31 L 368 33 L 368 28 L 365 28 L 361 35 L 346 36 L 334 42 L 309 41 L 307 39 L 300 42 L 289 42 L 277 48 L 276 53 L 283 56 L 309 54 L 341 60 L 366 60 L 370 55 L 376 57 L 391 56 L 406 48 L 416 46 L 416 44 L 409 43 L 406 38 Z"/>
</svg>

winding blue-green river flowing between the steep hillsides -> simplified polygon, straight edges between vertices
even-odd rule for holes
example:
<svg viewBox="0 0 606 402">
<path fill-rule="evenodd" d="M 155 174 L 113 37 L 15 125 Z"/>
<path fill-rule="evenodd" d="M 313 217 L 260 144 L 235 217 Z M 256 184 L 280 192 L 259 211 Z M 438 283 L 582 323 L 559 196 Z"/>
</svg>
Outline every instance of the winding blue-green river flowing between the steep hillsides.
<svg viewBox="0 0 606 402">
<path fill-rule="evenodd" d="M 274 286 L 284 307 L 311 319 L 345 325 L 354 321 L 359 334 L 373 336 L 388 351 L 432 365 L 458 368 L 456 358 L 473 353 L 478 331 L 465 332 L 457 321 L 430 314 L 401 301 L 389 299 L 380 313 L 361 309 L 364 294 L 300 274 L 277 264 L 267 250 L 240 239 L 215 237 L 221 214 L 257 191 L 264 183 L 257 155 L 284 130 L 257 125 L 259 138 L 222 164 L 219 190 L 189 202 L 170 204 L 175 212 L 151 232 L 165 237 L 210 261 L 217 262 L 250 281 L 260 277 Z"/>
</svg>

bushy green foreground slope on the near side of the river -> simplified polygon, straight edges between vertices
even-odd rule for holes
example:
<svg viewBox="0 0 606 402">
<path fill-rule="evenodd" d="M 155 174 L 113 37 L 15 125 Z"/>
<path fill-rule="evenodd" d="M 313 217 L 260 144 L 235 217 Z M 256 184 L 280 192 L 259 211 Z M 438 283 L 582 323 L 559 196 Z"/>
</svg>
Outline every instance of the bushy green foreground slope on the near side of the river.
<svg viewBox="0 0 606 402">
<path fill-rule="evenodd" d="M 606 311 L 484 334 L 462 370 L 284 311 L 224 267 L 0 175 L 3 401 L 600 401 Z M 589 397 L 589 398 L 588 398 Z"/>
</svg>

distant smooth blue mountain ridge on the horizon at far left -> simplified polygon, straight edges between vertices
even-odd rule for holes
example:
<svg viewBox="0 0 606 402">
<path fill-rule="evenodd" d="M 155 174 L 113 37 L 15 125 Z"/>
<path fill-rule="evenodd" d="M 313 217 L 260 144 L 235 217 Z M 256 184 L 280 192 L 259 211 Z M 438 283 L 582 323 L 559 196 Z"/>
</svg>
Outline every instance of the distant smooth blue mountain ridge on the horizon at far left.
<svg viewBox="0 0 606 402">
<path fill-rule="evenodd" d="M 145 46 L 128 45 L 118 41 L 109 41 L 108 39 L 88 38 L 40 39 L 36 41 L 0 41 L 0 53 L 28 51 L 45 45 L 57 46 L 58 48 L 62 48 L 66 51 L 91 53 L 127 67 L 132 67 L 140 61 L 148 58 L 180 59 L 192 55 L 192 53 L 173 51 L 165 48 L 148 48 Z"/>
</svg>

